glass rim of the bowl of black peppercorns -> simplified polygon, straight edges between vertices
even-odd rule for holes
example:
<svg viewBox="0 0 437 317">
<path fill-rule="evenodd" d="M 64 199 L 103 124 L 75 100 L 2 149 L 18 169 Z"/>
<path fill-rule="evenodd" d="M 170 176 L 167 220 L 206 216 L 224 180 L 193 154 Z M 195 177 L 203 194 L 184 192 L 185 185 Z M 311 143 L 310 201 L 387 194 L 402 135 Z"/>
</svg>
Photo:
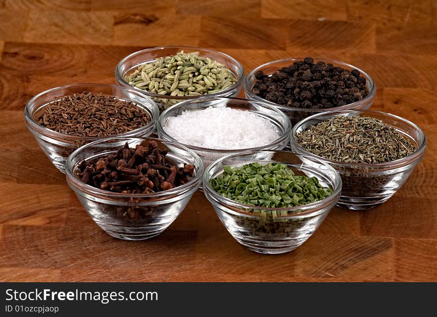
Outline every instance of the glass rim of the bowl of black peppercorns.
<svg viewBox="0 0 437 317">
<path fill-rule="evenodd" d="M 357 71 L 359 71 L 360 75 L 363 75 L 364 78 L 366 80 L 368 80 L 369 83 L 370 83 L 370 89 L 369 89 L 367 95 L 363 99 L 361 99 L 361 100 L 358 100 L 358 101 L 355 101 L 353 103 L 349 103 L 349 104 L 346 104 L 346 105 L 343 105 L 343 106 L 339 106 L 339 107 L 331 107 L 331 108 L 323 108 L 323 109 L 307 109 L 307 108 L 289 107 L 289 106 L 286 106 L 286 105 L 275 103 L 275 102 L 269 101 L 267 99 L 261 98 L 261 97 L 259 97 L 258 95 L 254 94 L 252 92 L 252 88 L 250 87 L 251 84 L 249 82 L 249 78 L 252 77 L 252 75 L 254 76 L 255 73 L 258 72 L 261 68 L 269 66 L 269 65 L 277 64 L 277 63 L 279 64 L 279 63 L 284 63 L 284 62 L 303 61 L 303 59 L 304 59 L 304 57 L 285 58 L 285 59 L 281 59 L 281 60 L 276 60 L 276 61 L 271 61 L 271 62 L 268 62 L 268 63 L 264 63 L 262 65 L 257 66 L 256 68 L 254 68 L 252 71 L 250 71 L 247 74 L 246 79 L 244 80 L 244 91 L 248 95 L 248 98 L 254 99 L 256 101 L 262 101 L 262 102 L 269 103 L 271 105 L 274 105 L 274 106 L 280 108 L 283 111 L 300 111 L 300 112 L 326 112 L 326 111 L 332 111 L 332 110 L 354 109 L 356 107 L 360 107 L 362 105 L 366 105 L 367 103 L 372 102 L 372 100 L 374 99 L 375 94 L 376 94 L 376 84 L 375 84 L 374 80 L 370 77 L 370 75 L 368 75 L 362 69 L 360 69 L 358 67 L 355 67 L 352 64 L 348 64 L 348 63 L 337 61 L 337 60 L 324 59 L 324 58 L 313 58 L 313 60 L 314 60 L 314 62 L 324 62 L 326 64 L 328 64 L 328 63 L 330 63 L 330 64 L 335 63 L 335 64 L 339 64 L 339 65 L 342 65 L 342 66 L 347 66 L 347 67 L 350 67 L 350 68 L 353 68 L 353 69 L 356 69 Z M 280 69 L 278 69 L 278 71 L 279 70 Z"/>
</svg>

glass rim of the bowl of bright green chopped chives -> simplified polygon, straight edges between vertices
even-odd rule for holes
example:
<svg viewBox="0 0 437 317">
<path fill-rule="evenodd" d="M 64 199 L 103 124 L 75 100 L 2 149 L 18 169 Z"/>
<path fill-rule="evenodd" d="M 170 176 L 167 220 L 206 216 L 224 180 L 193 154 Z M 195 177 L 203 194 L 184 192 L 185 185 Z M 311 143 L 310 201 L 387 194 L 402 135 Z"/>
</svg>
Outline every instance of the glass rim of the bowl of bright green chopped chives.
<svg viewBox="0 0 437 317">
<path fill-rule="evenodd" d="M 336 184 L 336 187 L 332 188 L 331 195 L 329 195 L 328 197 L 326 197 L 322 200 L 318 200 L 316 202 L 306 204 L 306 205 L 300 205 L 300 206 L 294 206 L 294 207 L 279 207 L 279 208 L 258 207 L 258 206 L 253 206 L 253 205 L 249 205 L 249 204 L 243 204 L 243 203 L 240 203 L 240 202 L 234 201 L 232 199 L 221 196 L 220 194 L 218 194 L 217 191 L 215 191 L 211 187 L 211 184 L 209 182 L 207 174 L 213 167 L 215 167 L 216 165 L 221 163 L 223 160 L 228 159 L 228 158 L 238 157 L 238 156 L 241 157 L 241 156 L 247 156 L 247 155 L 258 154 L 258 153 L 287 153 L 289 155 L 290 154 L 295 155 L 299 158 L 300 157 L 306 158 L 306 159 L 309 159 L 311 161 L 322 164 L 328 170 L 330 170 L 333 173 L 333 175 L 335 175 L 335 179 L 333 180 L 333 182 L 334 182 L 334 184 Z M 245 162 L 245 164 L 249 164 L 251 162 L 252 161 L 247 161 L 247 162 Z M 278 161 L 278 163 L 286 163 L 286 162 Z M 305 162 L 302 162 L 302 164 L 308 165 Z M 323 173 L 323 174 L 326 177 L 328 177 L 325 173 Z M 227 208 L 228 208 L 228 206 L 234 207 L 234 209 L 232 209 L 232 210 L 238 214 L 243 215 L 243 216 L 255 216 L 256 217 L 256 215 L 254 215 L 254 214 L 243 211 L 244 209 L 256 209 L 256 210 L 262 210 L 262 211 L 288 211 L 288 212 L 293 212 L 293 211 L 298 210 L 297 212 L 294 212 L 294 213 L 289 214 L 289 215 L 285 215 L 285 216 L 278 215 L 277 216 L 278 219 L 295 218 L 295 217 L 304 216 L 304 215 L 308 216 L 308 215 L 311 215 L 312 213 L 319 213 L 320 212 L 319 208 L 329 205 L 333 200 L 338 201 L 338 199 L 340 198 L 341 190 L 342 190 L 342 179 L 341 179 L 340 174 L 338 173 L 338 171 L 334 167 L 332 167 L 328 163 L 326 163 L 318 158 L 315 158 L 314 156 L 308 156 L 308 155 L 304 155 L 301 153 L 290 152 L 290 151 L 281 151 L 281 150 L 245 151 L 245 152 L 239 152 L 236 154 L 231 154 L 231 155 L 225 156 L 223 158 L 216 159 L 214 162 L 212 162 L 205 169 L 202 181 L 203 181 L 203 188 L 205 190 L 205 194 L 209 194 L 214 200 L 218 201 L 221 204 L 225 204 Z"/>
</svg>

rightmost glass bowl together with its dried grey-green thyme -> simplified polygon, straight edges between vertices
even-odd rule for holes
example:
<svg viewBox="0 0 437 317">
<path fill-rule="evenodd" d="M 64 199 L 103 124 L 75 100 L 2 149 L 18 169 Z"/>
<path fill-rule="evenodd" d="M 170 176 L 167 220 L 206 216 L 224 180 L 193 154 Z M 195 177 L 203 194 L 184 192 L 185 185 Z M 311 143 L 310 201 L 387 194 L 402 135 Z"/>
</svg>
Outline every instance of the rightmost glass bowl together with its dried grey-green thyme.
<svg viewBox="0 0 437 317">
<path fill-rule="evenodd" d="M 340 174 L 338 206 L 378 206 L 405 183 L 425 154 L 427 140 L 414 123 L 372 110 L 329 111 L 294 126 L 291 149 L 316 156 Z"/>
</svg>

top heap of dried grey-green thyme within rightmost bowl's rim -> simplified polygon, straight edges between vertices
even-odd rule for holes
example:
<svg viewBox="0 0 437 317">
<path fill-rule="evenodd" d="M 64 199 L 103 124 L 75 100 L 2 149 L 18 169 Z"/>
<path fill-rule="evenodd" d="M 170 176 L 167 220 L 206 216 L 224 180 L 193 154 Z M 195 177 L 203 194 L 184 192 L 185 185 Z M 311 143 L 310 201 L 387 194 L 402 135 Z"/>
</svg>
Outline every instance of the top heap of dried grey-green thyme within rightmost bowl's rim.
<svg viewBox="0 0 437 317">
<path fill-rule="evenodd" d="M 335 117 L 297 136 L 308 152 L 345 163 L 385 163 L 415 150 L 410 140 L 383 121 L 364 116 Z"/>
</svg>

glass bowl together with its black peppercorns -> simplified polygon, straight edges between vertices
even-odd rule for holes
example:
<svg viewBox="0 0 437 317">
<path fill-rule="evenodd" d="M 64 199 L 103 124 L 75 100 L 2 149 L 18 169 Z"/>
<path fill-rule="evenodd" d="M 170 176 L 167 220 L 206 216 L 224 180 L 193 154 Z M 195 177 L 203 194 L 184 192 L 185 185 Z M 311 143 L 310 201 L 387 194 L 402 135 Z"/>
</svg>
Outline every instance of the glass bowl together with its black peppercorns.
<svg viewBox="0 0 437 317">
<path fill-rule="evenodd" d="M 355 66 L 327 59 L 289 58 L 263 64 L 246 77 L 247 99 L 277 106 L 293 125 L 330 110 L 367 109 L 373 79 Z"/>
</svg>

